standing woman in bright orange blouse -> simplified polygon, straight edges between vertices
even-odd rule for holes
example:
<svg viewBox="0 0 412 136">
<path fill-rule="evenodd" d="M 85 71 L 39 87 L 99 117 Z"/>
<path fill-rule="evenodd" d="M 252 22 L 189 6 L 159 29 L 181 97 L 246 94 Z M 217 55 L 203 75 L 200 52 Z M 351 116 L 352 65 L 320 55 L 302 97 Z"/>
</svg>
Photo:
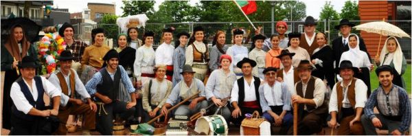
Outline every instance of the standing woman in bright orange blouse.
<svg viewBox="0 0 412 136">
<path fill-rule="evenodd" d="M 266 66 L 265 67 L 275 67 L 277 69 L 280 69 L 281 62 L 280 62 L 280 59 L 277 58 L 277 56 L 279 56 L 280 53 L 282 52 L 282 48 L 279 47 L 280 36 L 277 34 L 273 34 L 270 39 L 271 39 L 272 47 L 271 49 L 269 49 L 268 53 L 266 54 Z M 284 38 L 284 39 L 288 40 L 288 38 Z"/>
</svg>

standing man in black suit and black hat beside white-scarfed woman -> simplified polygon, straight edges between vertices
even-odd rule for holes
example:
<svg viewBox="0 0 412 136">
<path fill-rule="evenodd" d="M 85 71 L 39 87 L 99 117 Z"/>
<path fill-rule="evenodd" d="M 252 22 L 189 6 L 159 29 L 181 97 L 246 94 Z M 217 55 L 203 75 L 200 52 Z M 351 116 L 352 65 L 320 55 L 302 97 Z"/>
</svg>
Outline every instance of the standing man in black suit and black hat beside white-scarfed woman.
<svg viewBox="0 0 412 136">
<path fill-rule="evenodd" d="M 338 38 L 335 38 L 332 41 L 332 49 L 334 53 L 334 60 L 335 60 L 335 67 L 339 67 L 339 62 L 341 60 L 341 56 L 343 52 L 346 52 L 349 50 L 349 35 L 350 31 L 352 30 L 352 27 L 354 27 L 355 24 L 350 23 L 349 20 L 347 19 L 342 19 L 341 22 L 339 22 L 339 25 L 336 25 L 334 28 L 336 30 L 339 30 L 342 34 L 342 36 L 339 36 Z M 369 56 L 369 53 L 367 52 L 365 42 L 363 41 L 363 38 L 359 37 L 359 49 L 361 51 L 366 52 L 367 56 L 369 57 L 369 61 L 371 61 L 371 56 Z M 312 55 L 312 54 L 310 54 Z"/>
</svg>

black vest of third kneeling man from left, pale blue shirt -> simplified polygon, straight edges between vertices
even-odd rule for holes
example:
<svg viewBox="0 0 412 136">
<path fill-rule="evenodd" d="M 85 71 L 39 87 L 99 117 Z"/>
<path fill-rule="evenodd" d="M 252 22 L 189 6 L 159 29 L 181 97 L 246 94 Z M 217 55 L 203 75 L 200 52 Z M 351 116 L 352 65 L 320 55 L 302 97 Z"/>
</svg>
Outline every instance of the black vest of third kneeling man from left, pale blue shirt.
<svg viewBox="0 0 412 136">
<path fill-rule="evenodd" d="M 112 78 L 110 77 L 110 74 L 106 70 L 106 67 L 104 67 L 103 69 L 100 69 L 99 72 L 102 74 L 103 82 L 102 84 L 98 84 L 98 87 L 97 87 L 98 93 L 102 95 L 106 95 L 111 100 L 116 100 L 117 95 L 119 95 L 120 78 L 122 77 L 120 68 L 117 67 L 114 80 L 112 80 Z M 99 102 L 102 101 L 99 98 L 96 98 L 96 100 L 98 100 Z"/>
</svg>

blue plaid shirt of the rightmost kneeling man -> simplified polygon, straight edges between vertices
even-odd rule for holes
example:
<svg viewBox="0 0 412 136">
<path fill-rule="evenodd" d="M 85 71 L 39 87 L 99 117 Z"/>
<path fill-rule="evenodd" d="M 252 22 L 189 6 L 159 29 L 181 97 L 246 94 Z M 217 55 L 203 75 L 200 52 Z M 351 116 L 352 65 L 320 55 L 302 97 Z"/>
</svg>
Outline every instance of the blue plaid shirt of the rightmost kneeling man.
<svg viewBox="0 0 412 136">
<path fill-rule="evenodd" d="M 393 84 L 391 91 L 388 94 L 383 91 L 382 87 L 375 89 L 369 97 L 365 105 L 365 115 L 372 120 L 374 107 L 378 108 L 380 114 L 387 116 L 402 116 L 401 124 L 398 128 L 400 132 L 407 131 L 411 125 L 411 102 L 409 102 L 408 93 Z"/>
</svg>

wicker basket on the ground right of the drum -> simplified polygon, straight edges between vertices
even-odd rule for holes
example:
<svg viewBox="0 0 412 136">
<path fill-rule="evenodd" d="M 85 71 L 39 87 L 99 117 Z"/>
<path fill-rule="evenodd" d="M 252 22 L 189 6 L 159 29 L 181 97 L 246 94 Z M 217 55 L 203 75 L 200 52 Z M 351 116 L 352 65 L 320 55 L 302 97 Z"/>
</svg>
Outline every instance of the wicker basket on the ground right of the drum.
<svg viewBox="0 0 412 136">
<path fill-rule="evenodd" d="M 264 121 L 266 120 L 260 117 L 258 111 L 253 112 L 250 119 L 244 118 L 241 124 L 244 135 L 260 135 L 260 124 Z"/>
</svg>

